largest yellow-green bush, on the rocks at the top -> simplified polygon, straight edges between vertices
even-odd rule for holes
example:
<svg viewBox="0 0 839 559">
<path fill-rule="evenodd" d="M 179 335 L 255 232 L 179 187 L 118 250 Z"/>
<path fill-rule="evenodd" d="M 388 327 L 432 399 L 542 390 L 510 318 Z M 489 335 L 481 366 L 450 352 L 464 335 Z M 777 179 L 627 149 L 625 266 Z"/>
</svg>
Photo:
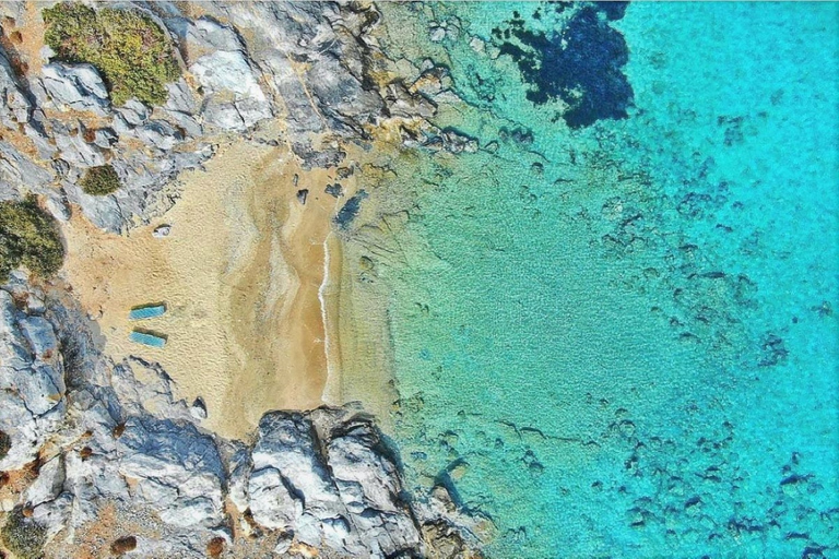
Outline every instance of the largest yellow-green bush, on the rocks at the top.
<svg viewBox="0 0 839 559">
<path fill-rule="evenodd" d="M 115 105 L 131 97 L 162 105 L 165 84 L 180 75 L 168 36 L 138 11 L 60 3 L 43 14 L 44 40 L 58 59 L 96 67 Z"/>
</svg>

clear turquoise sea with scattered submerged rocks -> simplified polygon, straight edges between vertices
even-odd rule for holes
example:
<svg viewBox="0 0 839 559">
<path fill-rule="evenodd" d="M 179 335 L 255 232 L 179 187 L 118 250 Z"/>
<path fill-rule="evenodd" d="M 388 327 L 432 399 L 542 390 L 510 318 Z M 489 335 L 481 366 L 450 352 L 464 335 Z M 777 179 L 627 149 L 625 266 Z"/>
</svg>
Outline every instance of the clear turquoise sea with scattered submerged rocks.
<svg viewBox="0 0 839 559">
<path fill-rule="evenodd" d="M 494 558 L 839 557 L 839 4 L 382 9 L 481 145 L 393 179 L 412 488 Z"/>
</svg>

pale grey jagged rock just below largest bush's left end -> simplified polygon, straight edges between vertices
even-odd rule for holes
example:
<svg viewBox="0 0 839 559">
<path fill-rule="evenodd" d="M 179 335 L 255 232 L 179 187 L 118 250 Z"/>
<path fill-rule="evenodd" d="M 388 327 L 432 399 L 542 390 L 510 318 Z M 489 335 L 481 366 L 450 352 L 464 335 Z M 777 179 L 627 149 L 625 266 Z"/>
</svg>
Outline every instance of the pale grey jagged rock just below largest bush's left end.
<svg viewBox="0 0 839 559">
<path fill-rule="evenodd" d="M 56 106 L 87 110 L 98 116 L 108 114 L 108 90 L 93 66 L 52 62 L 44 66 L 40 72 L 40 83 Z M 46 100 L 38 99 L 40 104 Z"/>
</svg>

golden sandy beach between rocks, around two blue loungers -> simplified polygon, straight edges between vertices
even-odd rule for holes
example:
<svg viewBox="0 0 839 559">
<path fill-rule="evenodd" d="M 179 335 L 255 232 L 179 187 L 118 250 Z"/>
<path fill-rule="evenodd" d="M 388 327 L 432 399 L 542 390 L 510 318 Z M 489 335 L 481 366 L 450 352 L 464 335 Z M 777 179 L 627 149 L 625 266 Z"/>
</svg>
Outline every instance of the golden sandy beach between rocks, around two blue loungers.
<svg viewBox="0 0 839 559">
<path fill-rule="evenodd" d="M 64 277 L 98 321 L 108 355 L 158 361 L 179 397 L 204 399 L 208 428 L 243 438 L 267 411 L 317 407 L 330 373 L 333 383 L 340 374 L 339 336 L 332 332 L 328 359 L 334 326 L 324 326 L 340 289 L 323 280 L 328 269 L 341 277 L 330 221 L 342 201 L 323 193 L 328 171 L 304 171 L 285 148 L 244 141 L 181 180 L 175 206 L 126 236 L 74 215 L 64 227 Z M 305 205 L 302 188 L 310 192 Z M 172 234 L 156 239 L 162 224 Z M 168 311 L 129 322 L 131 307 L 147 302 Z M 166 335 L 166 346 L 130 342 L 134 326 Z"/>
</svg>

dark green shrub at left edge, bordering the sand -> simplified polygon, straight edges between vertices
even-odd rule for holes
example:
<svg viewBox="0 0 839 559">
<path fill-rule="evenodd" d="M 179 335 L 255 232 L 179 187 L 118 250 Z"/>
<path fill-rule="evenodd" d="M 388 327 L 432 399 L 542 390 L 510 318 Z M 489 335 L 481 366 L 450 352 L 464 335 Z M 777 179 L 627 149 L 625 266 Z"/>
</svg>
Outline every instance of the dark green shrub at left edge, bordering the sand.
<svg viewBox="0 0 839 559">
<path fill-rule="evenodd" d="M 0 281 L 20 265 L 49 277 L 63 261 L 64 247 L 56 222 L 38 207 L 35 197 L 0 202 Z"/>
</svg>

